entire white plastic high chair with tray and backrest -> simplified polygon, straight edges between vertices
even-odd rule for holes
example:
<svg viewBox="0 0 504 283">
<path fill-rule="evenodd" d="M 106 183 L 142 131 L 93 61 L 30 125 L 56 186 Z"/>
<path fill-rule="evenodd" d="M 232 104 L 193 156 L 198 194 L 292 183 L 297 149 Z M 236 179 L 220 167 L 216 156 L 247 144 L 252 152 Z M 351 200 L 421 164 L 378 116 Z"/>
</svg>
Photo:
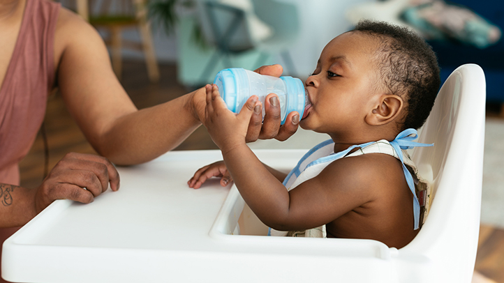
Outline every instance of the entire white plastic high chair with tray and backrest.
<svg viewBox="0 0 504 283">
<path fill-rule="evenodd" d="M 218 179 L 186 181 L 218 151 L 179 151 L 121 167 L 119 192 L 88 205 L 55 201 L 3 244 L 13 282 L 470 282 L 479 229 L 484 77 L 455 70 L 413 158 L 436 186 L 431 213 L 401 250 L 376 240 L 236 234 L 244 202 Z M 305 150 L 258 150 L 288 171 Z M 246 218 L 249 215 L 244 215 Z M 242 219 L 239 230 L 246 231 Z M 244 224 L 245 223 L 245 224 Z"/>
</svg>

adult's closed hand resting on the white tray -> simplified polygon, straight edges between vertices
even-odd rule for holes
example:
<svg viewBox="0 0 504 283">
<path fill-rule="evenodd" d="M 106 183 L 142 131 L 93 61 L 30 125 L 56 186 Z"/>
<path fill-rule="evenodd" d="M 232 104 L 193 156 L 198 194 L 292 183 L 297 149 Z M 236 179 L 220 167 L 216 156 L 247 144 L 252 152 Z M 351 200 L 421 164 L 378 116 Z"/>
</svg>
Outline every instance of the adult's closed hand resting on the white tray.
<svg viewBox="0 0 504 283">
<path fill-rule="evenodd" d="M 36 213 L 40 213 L 56 199 L 71 199 L 89 204 L 107 190 L 109 183 L 113 191 L 119 190 L 119 173 L 107 158 L 67 153 L 37 188 Z"/>
</svg>

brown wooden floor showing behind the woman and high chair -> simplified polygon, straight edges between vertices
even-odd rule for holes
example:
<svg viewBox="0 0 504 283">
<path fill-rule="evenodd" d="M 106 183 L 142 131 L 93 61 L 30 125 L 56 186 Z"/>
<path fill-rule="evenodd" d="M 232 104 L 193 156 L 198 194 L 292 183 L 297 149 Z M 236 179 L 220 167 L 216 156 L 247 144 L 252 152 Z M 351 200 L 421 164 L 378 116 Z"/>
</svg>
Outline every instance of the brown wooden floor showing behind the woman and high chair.
<svg viewBox="0 0 504 283">
<path fill-rule="evenodd" d="M 147 71 L 141 62 L 125 62 L 123 85 L 138 108 L 149 107 L 161 102 L 172 100 L 188 91 L 177 83 L 176 67 L 161 65 L 161 82 L 149 84 Z M 66 111 L 61 97 L 54 95 L 47 105 L 45 117 L 47 143 L 50 148 L 49 168 L 60 160 L 65 153 L 74 151 L 80 153 L 96 153 L 75 125 Z M 178 150 L 216 149 L 205 128 L 200 127 L 193 132 Z M 39 134 L 36 142 L 20 164 L 21 184 L 28 188 L 36 188 L 43 179 L 44 145 Z M 476 266 L 483 278 L 479 282 L 504 283 L 504 230 L 482 225 L 480 243 L 477 252 Z M 475 280 L 476 281 L 476 280 Z"/>
</svg>

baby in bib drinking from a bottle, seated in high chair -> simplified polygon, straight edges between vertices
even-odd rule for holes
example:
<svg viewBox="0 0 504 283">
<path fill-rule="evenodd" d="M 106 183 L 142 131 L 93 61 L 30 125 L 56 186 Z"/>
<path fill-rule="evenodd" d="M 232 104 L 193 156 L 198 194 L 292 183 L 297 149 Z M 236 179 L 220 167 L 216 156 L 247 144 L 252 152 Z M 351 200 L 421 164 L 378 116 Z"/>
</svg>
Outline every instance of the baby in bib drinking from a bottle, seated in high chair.
<svg viewBox="0 0 504 283">
<path fill-rule="evenodd" d="M 401 148 L 425 146 L 411 140 L 440 86 L 436 55 L 406 28 L 364 21 L 325 46 L 305 86 L 311 106 L 299 125 L 331 139 L 286 176 L 263 165 L 245 143 L 253 109 L 233 114 L 217 87 L 207 85 L 205 126 L 223 162 L 199 169 L 188 185 L 200 188 L 212 176 L 221 176 L 222 185 L 234 181 L 272 235 L 404 247 L 422 224 L 426 187 Z"/>
</svg>

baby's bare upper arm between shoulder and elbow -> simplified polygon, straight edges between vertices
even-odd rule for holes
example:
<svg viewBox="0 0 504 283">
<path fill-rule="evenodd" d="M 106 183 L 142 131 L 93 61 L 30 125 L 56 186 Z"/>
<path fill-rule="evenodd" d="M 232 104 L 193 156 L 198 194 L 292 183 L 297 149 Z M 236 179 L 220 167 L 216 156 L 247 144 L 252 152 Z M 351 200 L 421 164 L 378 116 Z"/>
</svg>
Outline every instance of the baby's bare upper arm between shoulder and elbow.
<svg viewBox="0 0 504 283">
<path fill-rule="evenodd" d="M 311 229 L 338 220 L 350 211 L 361 211 L 362 217 L 368 217 L 366 213 L 376 212 L 376 203 L 383 199 L 383 191 L 376 190 L 377 186 L 389 185 L 384 181 L 390 176 L 385 171 L 387 164 L 376 156 L 360 155 L 332 162 L 318 176 L 290 190 L 289 217 L 276 229 Z"/>
</svg>

